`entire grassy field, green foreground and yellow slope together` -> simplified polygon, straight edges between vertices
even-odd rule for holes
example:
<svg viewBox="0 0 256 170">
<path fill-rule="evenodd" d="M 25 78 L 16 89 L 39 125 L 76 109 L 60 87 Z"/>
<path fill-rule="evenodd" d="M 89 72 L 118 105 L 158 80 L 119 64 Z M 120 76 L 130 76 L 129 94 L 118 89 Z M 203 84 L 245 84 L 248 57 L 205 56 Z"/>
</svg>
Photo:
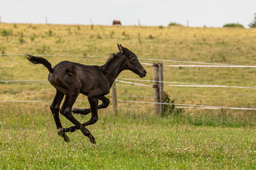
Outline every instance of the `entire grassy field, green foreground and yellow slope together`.
<svg viewBox="0 0 256 170">
<path fill-rule="evenodd" d="M 61 26 L 0 23 L 0 53 L 38 55 L 104 55 L 117 52 L 117 43 L 137 57 L 256 65 L 256 29 L 137 26 Z M 107 57 L 46 57 L 104 64 Z M 140 60 L 140 62 L 148 62 Z M 164 64 L 173 64 L 164 62 Z M 145 66 L 144 79 L 154 79 Z M 24 56 L 0 56 L 0 80 L 47 79 L 48 70 L 28 64 Z M 132 72 L 120 78 L 139 79 Z M 232 86 L 256 86 L 254 68 L 164 67 L 165 81 Z M 150 83 L 147 83 L 150 84 Z M 256 108 L 255 89 L 165 86 L 175 103 Z M 36 91 L 31 92 L 31 91 Z M 58 137 L 47 81 L 0 83 L 0 169 L 256 169 L 255 111 L 175 110 L 159 118 L 153 105 L 119 103 L 111 106 L 89 130 L 97 145 L 80 131 Z M 153 89 L 117 84 L 119 99 L 153 101 Z M 125 96 L 124 96 L 125 95 Z M 129 97 L 127 97 L 129 96 Z M 111 98 L 111 97 L 110 97 Z M 78 99 L 87 99 L 79 96 Z M 142 105 L 142 107 L 139 107 Z M 88 106 L 76 102 L 75 107 Z M 134 106 L 134 107 L 132 107 Z M 75 115 L 85 122 L 90 115 Z M 71 123 L 60 117 L 64 127 Z"/>
</svg>

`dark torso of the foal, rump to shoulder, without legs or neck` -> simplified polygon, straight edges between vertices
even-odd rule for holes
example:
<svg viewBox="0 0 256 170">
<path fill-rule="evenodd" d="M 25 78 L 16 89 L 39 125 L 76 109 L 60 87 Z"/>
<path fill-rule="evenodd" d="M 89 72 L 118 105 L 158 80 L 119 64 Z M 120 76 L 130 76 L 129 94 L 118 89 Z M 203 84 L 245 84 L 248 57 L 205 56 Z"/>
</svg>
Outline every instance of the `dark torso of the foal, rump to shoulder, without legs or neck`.
<svg viewBox="0 0 256 170">
<path fill-rule="evenodd" d="M 53 67 L 53 73 L 48 74 L 48 81 L 64 93 L 73 90 L 75 93 L 79 91 L 87 94 L 100 85 L 99 79 L 103 77 L 99 66 L 63 61 Z"/>
</svg>

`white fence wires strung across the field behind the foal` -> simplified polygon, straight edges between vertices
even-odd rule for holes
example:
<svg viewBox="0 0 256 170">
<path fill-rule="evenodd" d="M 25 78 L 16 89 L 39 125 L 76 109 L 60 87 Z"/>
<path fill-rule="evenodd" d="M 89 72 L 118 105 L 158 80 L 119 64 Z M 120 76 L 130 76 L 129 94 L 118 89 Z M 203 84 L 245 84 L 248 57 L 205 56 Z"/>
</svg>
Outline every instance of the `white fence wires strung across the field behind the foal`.
<svg viewBox="0 0 256 170">
<path fill-rule="evenodd" d="M 23 54 L 0 54 L 2 56 L 26 56 Z M 109 57 L 105 55 L 37 55 L 42 57 Z M 162 59 L 152 59 L 152 58 L 138 58 L 139 60 L 148 60 L 148 61 L 159 61 L 159 62 L 180 62 L 180 63 L 189 63 L 191 65 L 182 65 L 182 64 L 166 64 L 165 67 L 230 67 L 230 68 L 256 68 L 256 66 L 246 66 L 246 65 L 235 65 L 235 64 L 220 64 L 220 63 L 208 63 L 208 62 L 188 62 L 188 61 L 179 61 L 179 60 L 162 60 Z M 155 66 L 155 64 L 141 62 L 147 66 Z M 0 63 L 0 64 L 26 64 L 26 63 Z M 197 64 L 197 65 L 196 65 Z M 129 80 L 129 81 L 124 81 Z M 37 79 L 37 80 L 1 80 L 0 83 L 10 84 L 10 83 L 28 83 L 28 84 L 49 84 L 48 82 L 44 83 L 41 81 L 47 81 L 46 79 Z M 178 86 L 178 87 L 224 87 L 224 88 L 239 88 L 239 89 L 256 89 L 256 87 L 247 87 L 247 86 L 223 86 L 223 85 L 212 85 L 212 84 L 193 84 L 193 83 L 184 83 L 184 82 L 174 82 L 174 81 L 154 81 L 154 80 L 144 80 L 144 79 L 126 79 L 119 78 L 116 80 L 120 83 L 131 84 L 136 86 L 147 86 L 153 87 L 153 85 L 148 84 L 139 84 L 131 81 L 144 81 L 144 82 L 162 82 L 168 85 L 165 86 Z M 21 91 L 21 90 L 0 90 L 0 91 L 12 91 L 12 92 L 27 92 L 27 93 L 45 93 L 45 94 L 54 94 L 53 91 Z M 111 95 L 109 95 L 111 96 Z M 155 98 L 154 96 L 125 96 L 119 95 L 122 97 L 134 97 L 134 98 Z M 77 100 L 77 101 L 87 101 L 87 100 Z M 161 105 L 175 105 L 176 108 L 203 108 L 203 109 L 233 109 L 233 110 L 250 110 L 256 111 L 256 108 L 237 108 L 237 107 L 228 107 L 228 106 L 205 106 L 205 105 L 192 105 L 192 104 L 181 104 L 181 103 L 156 103 L 151 101 L 124 101 L 118 100 L 119 102 L 125 103 L 145 103 L 145 104 L 161 104 Z M 48 100 L 28 100 L 28 101 L 0 101 L 1 103 L 10 102 L 10 103 L 25 103 L 25 102 L 50 102 Z M 143 107 L 143 106 L 139 106 Z M 146 106 L 145 106 L 146 107 Z"/>
</svg>

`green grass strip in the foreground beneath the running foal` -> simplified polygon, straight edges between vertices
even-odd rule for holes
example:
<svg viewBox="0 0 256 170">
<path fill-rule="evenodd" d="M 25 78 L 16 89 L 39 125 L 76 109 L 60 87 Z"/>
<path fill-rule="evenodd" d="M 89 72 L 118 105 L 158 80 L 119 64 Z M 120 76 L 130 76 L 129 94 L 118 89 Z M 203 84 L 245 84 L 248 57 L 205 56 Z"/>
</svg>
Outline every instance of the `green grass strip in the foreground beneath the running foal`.
<svg viewBox="0 0 256 170">
<path fill-rule="evenodd" d="M 21 109 L 22 108 L 22 109 Z M 10 114 L 12 113 L 12 114 Z M 76 116 L 85 121 L 88 117 Z M 193 116 L 192 116 L 193 117 Z M 101 111 L 89 127 L 58 137 L 47 104 L 1 107 L 1 169 L 255 169 L 255 128 L 195 125 L 187 116 Z M 213 116 L 212 116 L 213 117 Z M 68 123 L 63 116 L 63 125 Z"/>
</svg>

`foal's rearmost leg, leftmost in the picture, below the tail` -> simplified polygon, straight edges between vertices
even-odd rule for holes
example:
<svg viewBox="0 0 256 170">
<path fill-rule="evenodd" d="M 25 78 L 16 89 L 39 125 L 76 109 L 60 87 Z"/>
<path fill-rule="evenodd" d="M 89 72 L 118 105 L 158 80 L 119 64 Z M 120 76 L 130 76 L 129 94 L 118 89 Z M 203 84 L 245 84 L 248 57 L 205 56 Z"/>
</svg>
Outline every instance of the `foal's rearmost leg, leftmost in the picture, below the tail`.
<svg viewBox="0 0 256 170">
<path fill-rule="evenodd" d="M 63 100 L 63 92 L 57 90 L 55 94 L 55 98 L 53 99 L 53 103 L 50 105 L 50 110 L 53 113 L 53 118 L 55 120 L 55 124 L 58 129 L 58 135 L 63 137 L 65 142 L 70 142 L 69 138 L 67 135 L 65 135 L 65 132 L 63 132 L 62 125 L 60 123 L 60 117 L 59 117 L 59 111 L 60 111 L 60 103 Z"/>
</svg>

